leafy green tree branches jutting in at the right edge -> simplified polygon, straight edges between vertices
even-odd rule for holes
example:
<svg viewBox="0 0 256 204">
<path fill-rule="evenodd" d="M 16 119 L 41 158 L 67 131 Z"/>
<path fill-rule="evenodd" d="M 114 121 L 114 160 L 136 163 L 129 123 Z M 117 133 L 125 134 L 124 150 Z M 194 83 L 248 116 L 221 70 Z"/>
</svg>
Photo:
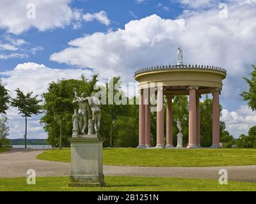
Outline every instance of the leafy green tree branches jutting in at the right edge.
<svg viewBox="0 0 256 204">
<path fill-rule="evenodd" d="M 248 84 L 248 91 L 242 92 L 240 96 L 243 97 L 244 101 L 248 101 L 247 105 L 256 110 L 256 65 L 252 65 L 253 71 L 250 73 L 250 79 L 243 77 Z"/>
</svg>

